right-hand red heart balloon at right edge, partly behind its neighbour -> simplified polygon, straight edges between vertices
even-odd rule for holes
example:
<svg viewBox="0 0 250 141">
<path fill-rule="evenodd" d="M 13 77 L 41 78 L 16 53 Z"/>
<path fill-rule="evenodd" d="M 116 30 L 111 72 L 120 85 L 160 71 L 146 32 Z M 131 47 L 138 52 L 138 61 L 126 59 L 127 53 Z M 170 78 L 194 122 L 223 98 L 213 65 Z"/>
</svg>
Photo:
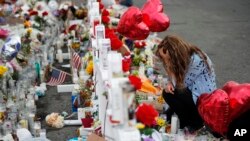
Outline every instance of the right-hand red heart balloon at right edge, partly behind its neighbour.
<svg viewBox="0 0 250 141">
<path fill-rule="evenodd" d="M 234 81 L 227 82 L 222 88 L 230 98 L 229 121 L 238 118 L 250 109 L 250 83 L 239 84 Z"/>
</svg>

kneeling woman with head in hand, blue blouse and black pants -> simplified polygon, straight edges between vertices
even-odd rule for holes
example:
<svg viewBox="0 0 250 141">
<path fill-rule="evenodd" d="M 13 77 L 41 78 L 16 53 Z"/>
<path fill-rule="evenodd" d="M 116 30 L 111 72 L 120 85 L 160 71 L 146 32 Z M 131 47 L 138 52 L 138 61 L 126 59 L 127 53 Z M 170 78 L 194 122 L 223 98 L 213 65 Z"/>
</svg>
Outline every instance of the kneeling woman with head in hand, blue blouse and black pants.
<svg viewBox="0 0 250 141">
<path fill-rule="evenodd" d="M 166 36 L 158 45 L 156 56 L 168 76 L 163 98 L 170 110 L 178 115 L 180 128 L 201 128 L 203 121 L 196 101 L 201 94 L 216 89 L 211 60 L 198 47 L 177 36 Z"/>
</svg>

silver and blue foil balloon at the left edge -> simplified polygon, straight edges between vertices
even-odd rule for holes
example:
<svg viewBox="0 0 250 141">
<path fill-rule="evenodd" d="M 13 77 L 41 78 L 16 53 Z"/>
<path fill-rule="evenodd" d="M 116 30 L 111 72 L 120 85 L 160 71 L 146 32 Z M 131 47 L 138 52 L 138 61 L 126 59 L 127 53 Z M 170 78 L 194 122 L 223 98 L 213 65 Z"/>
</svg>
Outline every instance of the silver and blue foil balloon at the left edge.
<svg viewBox="0 0 250 141">
<path fill-rule="evenodd" d="M 21 38 L 20 36 L 10 36 L 6 43 L 3 45 L 1 55 L 5 60 L 11 61 L 16 57 L 18 51 L 21 49 Z"/>
</svg>

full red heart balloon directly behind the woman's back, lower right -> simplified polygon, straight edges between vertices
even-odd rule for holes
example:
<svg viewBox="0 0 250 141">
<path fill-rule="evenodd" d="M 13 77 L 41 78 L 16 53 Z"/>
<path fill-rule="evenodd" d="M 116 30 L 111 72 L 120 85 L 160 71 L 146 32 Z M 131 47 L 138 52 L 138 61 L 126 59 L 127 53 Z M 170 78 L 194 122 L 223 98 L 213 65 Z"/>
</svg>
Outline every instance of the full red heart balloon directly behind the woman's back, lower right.
<svg viewBox="0 0 250 141">
<path fill-rule="evenodd" d="M 205 123 L 215 132 L 224 135 L 229 125 L 229 97 L 221 90 L 202 94 L 198 100 L 198 111 Z"/>
</svg>

